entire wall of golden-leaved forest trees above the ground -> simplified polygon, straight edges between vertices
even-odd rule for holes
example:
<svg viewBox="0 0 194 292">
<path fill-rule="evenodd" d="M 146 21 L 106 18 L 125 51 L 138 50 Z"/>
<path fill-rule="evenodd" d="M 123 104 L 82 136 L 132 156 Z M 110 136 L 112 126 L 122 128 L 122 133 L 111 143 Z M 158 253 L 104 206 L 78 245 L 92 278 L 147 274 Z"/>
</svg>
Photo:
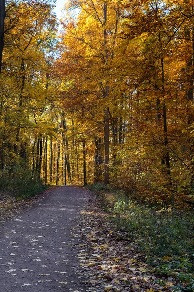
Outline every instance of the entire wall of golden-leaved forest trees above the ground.
<svg viewBox="0 0 194 292">
<path fill-rule="evenodd" d="M 193 1 L 0 2 L 1 186 L 192 203 Z"/>
</svg>

